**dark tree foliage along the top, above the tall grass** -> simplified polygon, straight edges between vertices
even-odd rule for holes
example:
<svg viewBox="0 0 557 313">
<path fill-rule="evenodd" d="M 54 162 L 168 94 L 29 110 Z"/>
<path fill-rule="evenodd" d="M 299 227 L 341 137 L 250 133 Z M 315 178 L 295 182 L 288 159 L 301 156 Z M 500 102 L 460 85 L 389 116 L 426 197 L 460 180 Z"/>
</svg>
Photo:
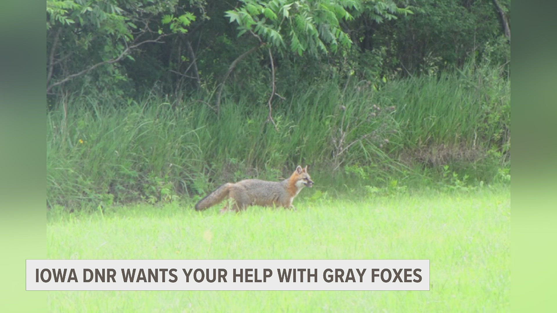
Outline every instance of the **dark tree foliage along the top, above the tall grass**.
<svg viewBox="0 0 557 313">
<path fill-rule="evenodd" d="M 499 3 L 509 18 L 509 1 Z M 47 28 L 49 84 L 113 60 L 133 43 L 168 35 L 51 90 L 54 102 L 81 86 L 120 97 L 136 97 L 155 84 L 166 93 L 211 93 L 254 38 L 272 48 L 276 75 L 287 81 L 298 80 L 284 73 L 301 63 L 314 76 L 335 72 L 379 81 L 436 75 L 474 53 L 510 61 L 489 1 L 242 0 L 231 9 L 216 0 L 47 0 Z M 249 82 L 250 92 L 260 92 L 266 57 L 261 52 L 242 60 L 237 71 L 250 74 L 233 75 L 227 85 L 245 90 Z"/>
</svg>

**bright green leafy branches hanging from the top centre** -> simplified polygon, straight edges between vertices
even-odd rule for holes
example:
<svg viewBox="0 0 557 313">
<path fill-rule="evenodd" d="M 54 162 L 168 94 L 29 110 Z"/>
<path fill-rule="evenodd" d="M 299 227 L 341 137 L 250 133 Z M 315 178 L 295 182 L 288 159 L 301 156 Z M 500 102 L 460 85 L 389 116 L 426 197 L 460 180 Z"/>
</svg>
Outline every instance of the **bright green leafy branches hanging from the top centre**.
<svg viewBox="0 0 557 313">
<path fill-rule="evenodd" d="M 302 55 L 336 52 L 350 48 L 352 40 L 346 22 L 355 17 L 372 18 L 378 23 L 396 18 L 394 14 L 412 13 L 398 8 L 393 1 L 292 1 L 242 0 L 243 6 L 226 11 L 230 22 L 237 23 L 238 36 L 252 32 L 277 50 Z"/>
</svg>

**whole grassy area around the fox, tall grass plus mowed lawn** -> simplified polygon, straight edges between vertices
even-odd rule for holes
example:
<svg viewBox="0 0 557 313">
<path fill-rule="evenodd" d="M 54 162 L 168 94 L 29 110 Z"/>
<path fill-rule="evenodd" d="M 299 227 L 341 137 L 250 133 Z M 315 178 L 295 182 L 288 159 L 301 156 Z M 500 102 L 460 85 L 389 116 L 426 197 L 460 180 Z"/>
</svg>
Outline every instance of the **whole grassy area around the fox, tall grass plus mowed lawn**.
<svg viewBox="0 0 557 313">
<path fill-rule="evenodd" d="M 468 66 L 261 93 L 68 95 L 47 114 L 48 258 L 429 259 L 430 291 L 49 292 L 53 312 L 506 312 L 510 80 Z M 297 211 L 193 204 L 309 165 Z M 496 186 L 496 187 L 495 187 Z"/>
</svg>

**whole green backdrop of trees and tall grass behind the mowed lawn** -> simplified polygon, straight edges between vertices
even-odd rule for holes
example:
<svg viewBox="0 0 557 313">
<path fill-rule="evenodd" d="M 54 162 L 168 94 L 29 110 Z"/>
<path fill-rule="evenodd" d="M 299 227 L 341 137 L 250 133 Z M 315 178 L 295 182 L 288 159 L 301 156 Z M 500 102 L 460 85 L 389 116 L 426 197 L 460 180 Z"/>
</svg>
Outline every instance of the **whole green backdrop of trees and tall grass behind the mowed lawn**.
<svg viewBox="0 0 557 313">
<path fill-rule="evenodd" d="M 505 180 L 499 3 L 47 0 L 49 202 L 167 202 L 304 160 L 391 189 L 443 165 Z"/>
</svg>

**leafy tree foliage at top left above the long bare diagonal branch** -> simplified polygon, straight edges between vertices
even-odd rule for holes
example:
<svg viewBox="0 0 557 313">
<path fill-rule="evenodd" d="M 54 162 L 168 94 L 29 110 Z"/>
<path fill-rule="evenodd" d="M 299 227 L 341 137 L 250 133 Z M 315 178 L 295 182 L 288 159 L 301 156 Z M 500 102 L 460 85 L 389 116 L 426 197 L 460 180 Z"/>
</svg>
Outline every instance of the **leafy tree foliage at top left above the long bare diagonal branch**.
<svg viewBox="0 0 557 313">
<path fill-rule="evenodd" d="M 56 87 L 106 66 L 105 86 L 125 80 L 116 63 L 145 43 L 160 43 L 185 32 L 191 13 L 174 17 L 179 0 L 47 0 L 47 94 Z"/>
</svg>

